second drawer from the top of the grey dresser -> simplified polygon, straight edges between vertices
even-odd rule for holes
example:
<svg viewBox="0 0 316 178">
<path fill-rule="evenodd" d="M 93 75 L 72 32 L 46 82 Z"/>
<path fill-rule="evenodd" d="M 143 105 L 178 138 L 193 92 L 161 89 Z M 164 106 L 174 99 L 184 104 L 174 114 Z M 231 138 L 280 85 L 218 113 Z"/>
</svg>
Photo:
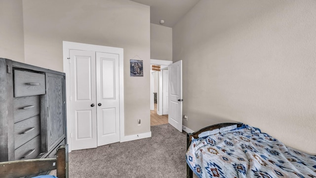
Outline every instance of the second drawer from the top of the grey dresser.
<svg viewBox="0 0 316 178">
<path fill-rule="evenodd" d="M 13 98 L 14 123 L 40 114 L 40 96 Z"/>
</svg>

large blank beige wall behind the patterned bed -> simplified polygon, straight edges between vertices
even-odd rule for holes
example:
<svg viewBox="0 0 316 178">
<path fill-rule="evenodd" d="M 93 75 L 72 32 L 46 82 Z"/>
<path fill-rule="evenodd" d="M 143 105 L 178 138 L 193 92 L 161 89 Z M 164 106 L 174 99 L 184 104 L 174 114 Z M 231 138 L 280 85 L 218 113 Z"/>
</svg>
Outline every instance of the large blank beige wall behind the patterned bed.
<svg viewBox="0 0 316 178">
<path fill-rule="evenodd" d="M 172 34 L 184 125 L 243 122 L 315 155 L 315 9 L 315 0 L 200 0 Z"/>
</svg>

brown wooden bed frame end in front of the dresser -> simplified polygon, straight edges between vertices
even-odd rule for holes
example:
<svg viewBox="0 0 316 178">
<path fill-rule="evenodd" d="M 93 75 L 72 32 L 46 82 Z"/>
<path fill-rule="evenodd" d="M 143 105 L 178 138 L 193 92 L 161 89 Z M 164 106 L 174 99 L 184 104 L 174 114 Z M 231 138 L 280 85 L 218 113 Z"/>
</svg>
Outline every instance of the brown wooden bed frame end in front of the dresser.
<svg viewBox="0 0 316 178">
<path fill-rule="evenodd" d="M 57 178 L 68 178 L 68 145 L 57 148 L 56 158 L 0 162 L 0 178 L 56 178 L 40 173 L 56 170 Z"/>
</svg>

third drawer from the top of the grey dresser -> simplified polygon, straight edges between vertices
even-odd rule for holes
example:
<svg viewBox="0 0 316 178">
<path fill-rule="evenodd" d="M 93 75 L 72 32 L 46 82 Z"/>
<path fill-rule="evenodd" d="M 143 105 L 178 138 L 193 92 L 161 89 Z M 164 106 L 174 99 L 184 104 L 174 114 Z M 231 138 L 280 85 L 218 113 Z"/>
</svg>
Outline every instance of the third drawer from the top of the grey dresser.
<svg viewBox="0 0 316 178">
<path fill-rule="evenodd" d="M 40 134 L 40 115 L 14 124 L 14 149 Z"/>
</svg>

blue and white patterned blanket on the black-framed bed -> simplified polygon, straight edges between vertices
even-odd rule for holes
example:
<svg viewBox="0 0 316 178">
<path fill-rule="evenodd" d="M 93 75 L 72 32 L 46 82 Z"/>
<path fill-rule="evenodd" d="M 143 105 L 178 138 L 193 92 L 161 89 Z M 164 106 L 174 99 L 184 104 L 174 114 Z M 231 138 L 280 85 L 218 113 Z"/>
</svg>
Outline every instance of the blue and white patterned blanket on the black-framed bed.
<svg viewBox="0 0 316 178">
<path fill-rule="evenodd" d="M 193 139 L 186 159 L 199 178 L 316 178 L 316 156 L 248 125 Z"/>
</svg>

